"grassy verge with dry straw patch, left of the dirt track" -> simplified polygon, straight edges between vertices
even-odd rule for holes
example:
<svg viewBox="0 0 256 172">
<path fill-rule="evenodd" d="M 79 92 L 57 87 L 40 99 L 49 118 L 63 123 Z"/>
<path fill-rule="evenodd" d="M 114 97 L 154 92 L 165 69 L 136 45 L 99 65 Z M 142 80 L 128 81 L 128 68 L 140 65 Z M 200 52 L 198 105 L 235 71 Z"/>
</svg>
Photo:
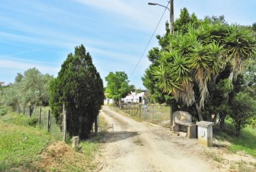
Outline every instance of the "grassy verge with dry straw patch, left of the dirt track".
<svg viewBox="0 0 256 172">
<path fill-rule="evenodd" d="M 101 132 L 81 141 L 79 152 L 44 127 L 33 125 L 33 120 L 38 119 L 14 112 L 0 117 L 0 171 L 90 171 L 96 168 L 92 160 L 105 133 L 104 119 L 100 118 Z"/>
</svg>

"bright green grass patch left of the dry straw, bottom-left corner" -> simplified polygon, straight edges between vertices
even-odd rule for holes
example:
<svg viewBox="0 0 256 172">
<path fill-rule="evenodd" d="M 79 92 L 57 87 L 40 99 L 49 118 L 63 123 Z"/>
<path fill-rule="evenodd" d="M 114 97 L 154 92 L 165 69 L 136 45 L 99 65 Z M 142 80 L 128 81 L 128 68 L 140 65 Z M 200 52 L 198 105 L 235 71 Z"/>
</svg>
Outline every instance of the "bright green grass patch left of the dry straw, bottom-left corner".
<svg viewBox="0 0 256 172">
<path fill-rule="evenodd" d="M 0 171 L 8 171 L 16 167 L 34 170 L 35 155 L 54 138 L 43 129 L 0 121 L 0 140 Z"/>
</svg>

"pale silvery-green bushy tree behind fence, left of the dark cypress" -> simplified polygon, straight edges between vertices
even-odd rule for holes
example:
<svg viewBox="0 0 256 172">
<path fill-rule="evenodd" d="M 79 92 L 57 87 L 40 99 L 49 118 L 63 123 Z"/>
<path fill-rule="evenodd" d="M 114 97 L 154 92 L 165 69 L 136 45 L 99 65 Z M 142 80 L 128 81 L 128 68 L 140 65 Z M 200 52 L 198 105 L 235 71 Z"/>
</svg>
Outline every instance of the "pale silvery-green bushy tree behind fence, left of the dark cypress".
<svg viewBox="0 0 256 172">
<path fill-rule="evenodd" d="M 6 87 L 3 94 L 4 104 L 13 107 L 16 104 L 23 106 L 38 106 L 49 100 L 49 85 L 53 76 L 43 75 L 36 68 L 26 70 L 23 74 L 18 73 L 15 82 Z"/>
</svg>

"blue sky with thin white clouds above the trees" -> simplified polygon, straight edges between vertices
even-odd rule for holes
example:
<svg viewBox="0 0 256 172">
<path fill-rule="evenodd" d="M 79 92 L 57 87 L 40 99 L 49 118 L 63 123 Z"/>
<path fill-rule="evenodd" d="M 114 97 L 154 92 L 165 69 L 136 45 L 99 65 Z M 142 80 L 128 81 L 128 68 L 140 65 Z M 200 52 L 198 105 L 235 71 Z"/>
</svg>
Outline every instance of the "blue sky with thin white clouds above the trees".
<svg viewBox="0 0 256 172">
<path fill-rule="evenodd" d="M 130 83 L 144 88 L 141 77 L 149 66 L 147 52 L 158 45 L 152 39 L 142 56 L 166 0 L 0 0 L 0 81 L 14 82 L 18 72 L 36 67 L 58 75 L 60 65 L 76 45 L 85 45 L 102 79 L 124 71 Z M 256 22 L 255 0 L 174 0 L 174 18 L 186 7 L 198 18 L 224 15 L 228 23 Z M 166 11 L 156 35 L 164 34 Z M 132 70 L 134 73 L 131 75 Z"/>
</svg>

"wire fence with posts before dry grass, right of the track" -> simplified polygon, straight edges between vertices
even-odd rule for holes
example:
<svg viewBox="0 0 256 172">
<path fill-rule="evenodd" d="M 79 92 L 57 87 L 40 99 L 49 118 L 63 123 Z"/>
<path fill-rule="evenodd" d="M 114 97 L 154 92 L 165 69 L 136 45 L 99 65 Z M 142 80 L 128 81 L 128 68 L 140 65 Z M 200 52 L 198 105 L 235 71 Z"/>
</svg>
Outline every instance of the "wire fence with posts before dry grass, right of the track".
<svg viewBox="0 0 256 172">
<path fill-rule="evenodd" d="M 148 122 L 166 127 L 169 127 L 171 124 L 171 107 L 166 105 L 122 102 L 118 107 L 122 112 Z"/>
</svg>

